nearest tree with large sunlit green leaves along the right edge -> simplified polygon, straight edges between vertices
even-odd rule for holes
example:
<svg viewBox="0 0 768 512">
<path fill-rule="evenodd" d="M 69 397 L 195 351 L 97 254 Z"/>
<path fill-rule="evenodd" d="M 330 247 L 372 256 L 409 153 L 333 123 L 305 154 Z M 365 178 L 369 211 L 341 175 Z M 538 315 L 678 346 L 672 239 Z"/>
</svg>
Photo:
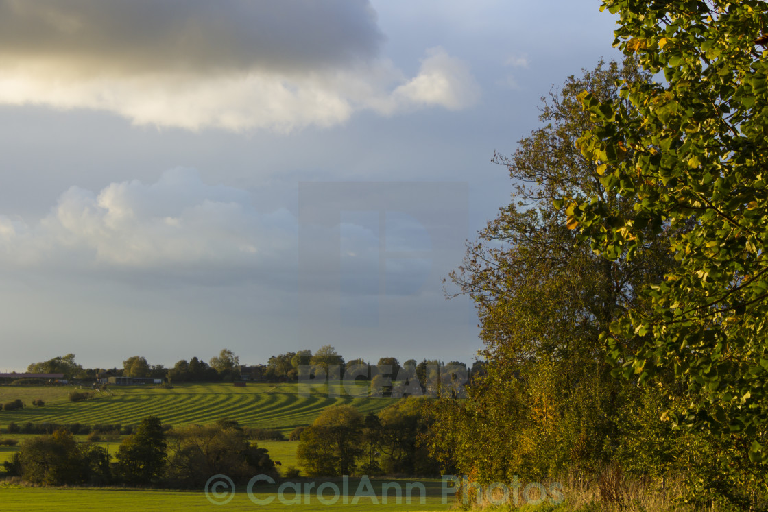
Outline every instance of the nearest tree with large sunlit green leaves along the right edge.
<svg viewBox="0 0 768 512">
<path fill-rule="evenodd" d="M 581 98 L 595 124 L 582 153 L 633 209 L 564 196 L 569 223 L 614 261 L 637 261 L 649 239 L 672 233 L 677 266 L 647 288 L 651 307 L 617 319 L 606 342 L 627 378 L 684 392 L 667 408 L 674 427 L 714 447 L 711 481 L 749 492 L 766 484 L 768 461 L 768 5 L 603 8 L 620 17 L 614 45 L 664 81 Z M 659 378 L 669 371 L 673 380 Z"/>
</svg>

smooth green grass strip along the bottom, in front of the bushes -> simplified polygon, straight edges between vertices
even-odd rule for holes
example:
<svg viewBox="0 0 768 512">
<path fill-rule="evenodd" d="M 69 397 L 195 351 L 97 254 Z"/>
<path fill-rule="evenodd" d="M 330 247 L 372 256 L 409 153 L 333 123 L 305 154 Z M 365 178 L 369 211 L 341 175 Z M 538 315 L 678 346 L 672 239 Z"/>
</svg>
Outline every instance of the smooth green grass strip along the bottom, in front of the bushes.
<svg viewBox="0 0 768 512">
<path fill-rule="evenodd" d="M 340 479 L 333 479 L 339 489 L 342 487 Z M 236 512 L 238 510 L 263 510 L 274 512 L 275 510 L 302 510 L 309 512 L 333 512 L 336 510 L 449 510 L 453 504 L 453 496 L 447 497 L 447 503 L 442 504 L 441 482 L 424 480 L 422 483 L 427 491 L 422 503 L 418 490 L 412 491 L 412 500 L 406 502 L 406 481 L 386 481 L 397 483 L 402 488 L 400 503 L 397 503 L 394 491 L 389 491 L 387 504 L 382 503 L 382 481 L 372 480 L 372 489 L 376 493 L 376 502 L 369 497 L 360 497 L 356 504 L 352 504 L 359 480 L 349 479 L 349 491 L 345 497 L 340 496 L 336 504 L 322 504 L 316 493 L 310 491 L 309 504 L 305 504 L 306 495 L 302 504 L 282 504 L 278 499 L 277 485 L 254 487 L 253 495 L 258 500 L 268 500 L 273 497 L 271 504 L 253 503 L 247 495 L 245 488 L 238 489 L 233 499 L 223 505 L 212 504 L 200 491 L 147 491 L 147 490 L 114 490 L 114 489 L 47 489 L 37 487 L 0 487 L 0 510 L 14 510 L 14 512 L 60 512 L 61 510 L 222 510 L 223 512 Z M 320 481 L 317 481 L 317 485 Z M 304 484 L 303 484 L 304 485 Z M 304 491 L 306 487 L 302 487 Z M 343 493 L 341 493 L 343 494 Z M 331 491 L 324 494 L 326 500 L 333 499 Z M 293 491 L 285 491 L 283 497 L 293 500 Z"/>
</svg>

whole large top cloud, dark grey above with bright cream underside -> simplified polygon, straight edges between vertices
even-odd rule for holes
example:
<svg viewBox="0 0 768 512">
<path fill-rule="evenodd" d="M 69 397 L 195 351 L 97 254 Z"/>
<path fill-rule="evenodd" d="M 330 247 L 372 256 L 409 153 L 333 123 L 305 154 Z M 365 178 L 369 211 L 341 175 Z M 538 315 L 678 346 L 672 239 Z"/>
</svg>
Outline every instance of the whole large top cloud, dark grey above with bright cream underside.
<svg viewBox="0 0 768 512">
<path fill-rule="evenodd" d="M 476 101 L 468 66 L 442 48 L 407 78 L 382 40 L 362 0 L 0 0 L 0 104 L 288 132 Z"/>
</svg>

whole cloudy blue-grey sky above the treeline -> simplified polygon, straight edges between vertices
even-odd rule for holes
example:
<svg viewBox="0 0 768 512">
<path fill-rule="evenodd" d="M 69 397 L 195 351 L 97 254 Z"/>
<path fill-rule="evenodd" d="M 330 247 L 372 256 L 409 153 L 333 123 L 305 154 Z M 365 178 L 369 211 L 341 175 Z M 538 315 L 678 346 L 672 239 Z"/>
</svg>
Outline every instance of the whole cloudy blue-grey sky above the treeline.
<svg viewBox="0 0 768 512">
<path fill-rule="evenodd" d="M 472 362 L 443 279 L 599 0 L 0 0 L 0 371 Z M 452 291 L 455 291 L 453 289 Z"/>
</svg>

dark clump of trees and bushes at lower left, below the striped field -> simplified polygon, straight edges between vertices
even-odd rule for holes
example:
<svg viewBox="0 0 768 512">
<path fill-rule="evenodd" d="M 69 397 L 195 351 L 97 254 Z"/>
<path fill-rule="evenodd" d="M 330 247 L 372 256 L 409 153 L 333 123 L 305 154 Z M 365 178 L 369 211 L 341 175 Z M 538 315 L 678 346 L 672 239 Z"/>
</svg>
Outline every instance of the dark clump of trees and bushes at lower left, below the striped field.
<svg viewBox="0 0 768 512">
<path fill-rule="evenodd" d="M 53 434 L 24 441 L 20 450 L 4 463 L 5 473 L 31 484 L 197 488 L 215 474 L 227 474 L 238 483 L 245 483 L 256 474 L 277 476 L 266 449 L 251 442 L 253 432 L 237 421 L 221 420 L 167 431 L 159 418 L 144 418 L 136 433 L 121 444 L 114 472 L 107 451 L 91 443 L 98 441 L 98 436 L 89 436 L 88 442 L 78 442 L 73 437 L 88 431 L 117 434 L 120 428 L 95 426 L 100 429 L 68 425 L 55 429 Z M 111 427 L 117 430 L 107 430 Z"/>
</svg>

